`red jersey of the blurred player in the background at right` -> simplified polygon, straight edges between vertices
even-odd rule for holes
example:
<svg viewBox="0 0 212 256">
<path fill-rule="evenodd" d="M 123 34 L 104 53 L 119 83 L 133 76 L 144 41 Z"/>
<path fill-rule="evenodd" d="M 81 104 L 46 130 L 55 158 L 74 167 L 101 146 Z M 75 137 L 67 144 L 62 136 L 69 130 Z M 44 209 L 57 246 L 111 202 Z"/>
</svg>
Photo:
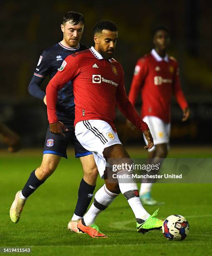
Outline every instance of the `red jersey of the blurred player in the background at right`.
<svg viewBox="0 0 212 256">
<path fill-rule="evenodd" d="M 141 116 L 153 115 L 170 123 L 170 102 L 174 93 L 182 109 L 188 106 L 180 87 L 177 62 L 174 58 L 165 56 L 162 59 L 155 49 L 150 54 L 137 61 L 129 99 L 135 105 L 141 92 Z"/>
</svg>

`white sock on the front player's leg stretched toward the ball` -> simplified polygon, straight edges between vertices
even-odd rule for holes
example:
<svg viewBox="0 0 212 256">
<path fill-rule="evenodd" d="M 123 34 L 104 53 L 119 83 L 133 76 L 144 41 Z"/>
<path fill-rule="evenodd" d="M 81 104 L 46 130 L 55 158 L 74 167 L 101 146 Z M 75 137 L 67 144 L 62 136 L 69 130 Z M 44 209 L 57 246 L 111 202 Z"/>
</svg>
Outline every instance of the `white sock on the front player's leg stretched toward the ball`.
<svg viewBox="0 0 212 256">
<path fill-rule="evenodd" d="M 122 171 L 119 172 L 118 174 L 121 173 Z M 145 210 L 145 208 L 141 204 L 137 184 L 133 181 L 132 177 L 129 177 L 129 175 L 132 176 L 132 173 L 128 172 L 127 174 L 127 180 L 132 183 L 123 183 L 124 180 L 122 178 L 118 178 L 120 190 L 122 194 L 127 198 L 127 201 L 135 214 L 135 218 L 146 220 L 147 218 L 149 218 L 150 214 Z"/>
</svg>

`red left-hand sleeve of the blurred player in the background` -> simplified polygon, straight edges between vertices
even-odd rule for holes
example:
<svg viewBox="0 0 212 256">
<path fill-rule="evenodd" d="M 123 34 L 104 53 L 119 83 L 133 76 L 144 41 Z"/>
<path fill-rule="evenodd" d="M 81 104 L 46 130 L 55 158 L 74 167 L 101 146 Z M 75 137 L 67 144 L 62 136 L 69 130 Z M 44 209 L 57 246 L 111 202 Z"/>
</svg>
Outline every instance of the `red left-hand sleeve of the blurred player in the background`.
<svg viewBox="0 0 212 256">
<path fill-rule="evenodd" d="M 136 63 L 132 83 L 130 86 L 129 100 L 135 106 L 137 96 L 140 93 L 142 83 L 147 75 L 147 65 L 144 59 L 139 59 Z"/>
</svg>

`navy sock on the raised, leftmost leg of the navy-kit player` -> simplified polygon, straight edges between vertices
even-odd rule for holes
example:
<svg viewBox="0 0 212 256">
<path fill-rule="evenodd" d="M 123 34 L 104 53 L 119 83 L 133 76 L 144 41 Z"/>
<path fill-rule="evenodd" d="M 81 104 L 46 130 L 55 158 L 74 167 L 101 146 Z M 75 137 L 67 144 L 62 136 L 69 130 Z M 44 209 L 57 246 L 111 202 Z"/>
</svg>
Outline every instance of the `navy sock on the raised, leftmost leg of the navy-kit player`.
<svg viewBox="0 0 212 256">
<path fill-rule="evenodd" d="M 37 189 L 41 184 L 43 184 L 45 180 L 37 179 L 35 175 L 35 170 L 31 172 L 27 183 L 25 184 L 24 188 L 22 189 L 22 195 L 24 197 L 29 197 L 35 189 Z"/>
</svg>

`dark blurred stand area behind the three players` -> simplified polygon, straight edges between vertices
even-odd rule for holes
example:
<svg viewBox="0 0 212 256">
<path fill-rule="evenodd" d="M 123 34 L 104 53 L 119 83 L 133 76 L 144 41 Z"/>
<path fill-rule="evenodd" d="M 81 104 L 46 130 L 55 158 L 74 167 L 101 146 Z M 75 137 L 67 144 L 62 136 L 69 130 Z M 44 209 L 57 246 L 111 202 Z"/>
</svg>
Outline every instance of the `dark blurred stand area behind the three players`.
<svg viewBox="0 0 212 256">
<path fill-rule="evenodd" d="M 68 10 L 84 15 L 86 25 L 81 43 L 87 46 L 93 45 L 92 28 L 97 21 L 110 19 L 117 24 L 115 59 L 124 68 L 127 92 L 137 59 L 152 49 L 153 29 L 167 26 L 172 39 L 168 53 L 179 63 L 182 89 L 191 108 L 190 119 L 182 123 L 182 111 L 173 99 L 171 143 L 211 143 L 211 1 L 7 0 L 0 1 L 0 121 L 20 134 L 23 146 L 44 143 L 46 108 L 41 100 L 29 95 L 27 87 L 42 51 L 62 40 L 60 24 Z M 47 82 L 48 79 L 43 88 Z M 138 111 L 140 104 L 138 97 Z M 143 143 L 138 140 L 138 131 L 127 129 L 119 112 L 116 123 L 121 141 Z"/>
</svg>

